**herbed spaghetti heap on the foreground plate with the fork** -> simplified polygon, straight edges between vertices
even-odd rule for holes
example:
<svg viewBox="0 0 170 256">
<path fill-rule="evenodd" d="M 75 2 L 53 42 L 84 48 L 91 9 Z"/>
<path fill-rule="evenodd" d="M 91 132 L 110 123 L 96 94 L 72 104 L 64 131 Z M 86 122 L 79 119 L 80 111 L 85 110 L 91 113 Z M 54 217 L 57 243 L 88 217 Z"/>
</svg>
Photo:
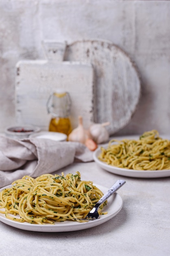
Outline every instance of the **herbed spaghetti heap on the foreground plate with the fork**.
<svg viewBox="0 0 170 256">
<path fill-rule="evenodd" d="M 6 218 L 31 224 L 84 218 L 103 193 L 91 181 L 81 181 L 76 172 L 62 175 L 24 176 L 0 192 L 0 213 Z M 101 205 L 99 214 L 102 213 Z"/>
</svg>

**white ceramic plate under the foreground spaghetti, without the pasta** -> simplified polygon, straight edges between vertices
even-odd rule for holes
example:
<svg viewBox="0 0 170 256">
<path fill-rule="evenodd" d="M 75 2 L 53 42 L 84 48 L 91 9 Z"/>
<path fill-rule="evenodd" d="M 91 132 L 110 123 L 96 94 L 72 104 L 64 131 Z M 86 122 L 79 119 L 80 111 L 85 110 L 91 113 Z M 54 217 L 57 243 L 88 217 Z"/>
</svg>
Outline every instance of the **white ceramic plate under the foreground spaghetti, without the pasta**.
<svg viewBox="0 0 170 256">
<path fill-rule="evenodd" d="M 95 184 L 103 193 L 107 192 L 107 188 Z M 10 187 L 10 186 L 6 186 Z M 4 189 L 4 188 L 2 188 Z M 0 191 L 2 191 L 0 189 Z M 104 207 L 103 211 L 107 211 L 108 213 L 105 215 L 100 215 L 97 220 L 91 220 L 87 222 L 76 222 L 76 221 L 64 221 L 64 222 L 55 222 L 54 225 L 44 224 L 30 224 L 28 222 L 16 222 L 13 220 L 9 220 L 5 217 L 3 213 L 0 213 L 0 221 L 4 222 L 5 224 L 16 227 L 18 229 L 28 230 L 28 231 L 38 231 L 38 232 L 67 232 L 67 231 L 76 231 L 82 229 L 88 229 L 91 227 L 96 227 L 107 220 L 110 220 L 118 212 L 122 209 L 123 201 L 120 195 L 114 193 L 107 202 L 107 205 Z M 2 209 L 3 210 L 3 209 Z M 15 216 L 16 218 L 16 216 Z"/>
</svg>

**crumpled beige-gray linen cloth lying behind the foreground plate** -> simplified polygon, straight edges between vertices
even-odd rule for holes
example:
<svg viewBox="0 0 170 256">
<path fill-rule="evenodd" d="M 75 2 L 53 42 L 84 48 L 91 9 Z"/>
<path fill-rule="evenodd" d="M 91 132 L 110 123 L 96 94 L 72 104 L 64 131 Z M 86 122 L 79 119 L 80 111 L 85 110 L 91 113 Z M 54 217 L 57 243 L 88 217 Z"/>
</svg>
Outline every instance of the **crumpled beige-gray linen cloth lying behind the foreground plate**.
<svg viewBox="0 0 170 256">
<path fill-rule="evenodd" d="M 0 188 L 24 175 L 52 173 L 78 159 L 93 161 L 92 151 L 78 142 L 0 136 Z"/>
</svg>

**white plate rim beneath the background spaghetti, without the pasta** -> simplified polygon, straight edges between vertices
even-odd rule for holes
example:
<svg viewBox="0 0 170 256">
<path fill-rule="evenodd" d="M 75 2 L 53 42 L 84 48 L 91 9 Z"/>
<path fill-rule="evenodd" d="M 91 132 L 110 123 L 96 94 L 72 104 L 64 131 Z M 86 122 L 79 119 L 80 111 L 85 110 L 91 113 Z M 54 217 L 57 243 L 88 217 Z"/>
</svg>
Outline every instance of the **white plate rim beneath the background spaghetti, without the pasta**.
<svg viewBox="0 0 170 256">
<path fill-rule="evenodd" d="M 107 148 L 107 146 L 103 146 Z M 159 177 L 169 177 L 170 170 L 158 170 L 158 171 L 137 171 L 125 168 L 119 168 L 116 166 L 111 166 L 109 164 L 105 164 L 104 162 L 98 159 L 98 156 L 101 153 L 101 149 L 97 148 L 93 153 L 93 159 L 98 166 L 102 169 L 109 171 L 110 173 L 114 173 L 117 175 L 123 175 L 127 177 L 135 177 L 135 178 L 159 178 Z"/>
</svg>

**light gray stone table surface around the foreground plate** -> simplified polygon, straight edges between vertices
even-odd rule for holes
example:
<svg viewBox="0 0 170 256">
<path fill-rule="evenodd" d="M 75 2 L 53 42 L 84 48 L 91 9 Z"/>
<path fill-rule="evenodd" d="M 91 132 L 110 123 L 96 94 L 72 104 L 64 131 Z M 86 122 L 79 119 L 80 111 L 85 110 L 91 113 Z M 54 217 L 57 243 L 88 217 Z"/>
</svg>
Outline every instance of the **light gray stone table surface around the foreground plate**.
<svg viewBox="0 0 170 256">
<path fill-rule="evenodd" d="M 61 233 L 24 231 L 0 222 L 0 256 L 170 255 L 170 177 L 123 177 L 95 162 L 77 162 L 57 173 L 61 171 L 80 171 L 82 180 L 108 188 L 126 180 L 118 190 L 124 202 L 121 211 L 99 226 Z"/>
</svg>

